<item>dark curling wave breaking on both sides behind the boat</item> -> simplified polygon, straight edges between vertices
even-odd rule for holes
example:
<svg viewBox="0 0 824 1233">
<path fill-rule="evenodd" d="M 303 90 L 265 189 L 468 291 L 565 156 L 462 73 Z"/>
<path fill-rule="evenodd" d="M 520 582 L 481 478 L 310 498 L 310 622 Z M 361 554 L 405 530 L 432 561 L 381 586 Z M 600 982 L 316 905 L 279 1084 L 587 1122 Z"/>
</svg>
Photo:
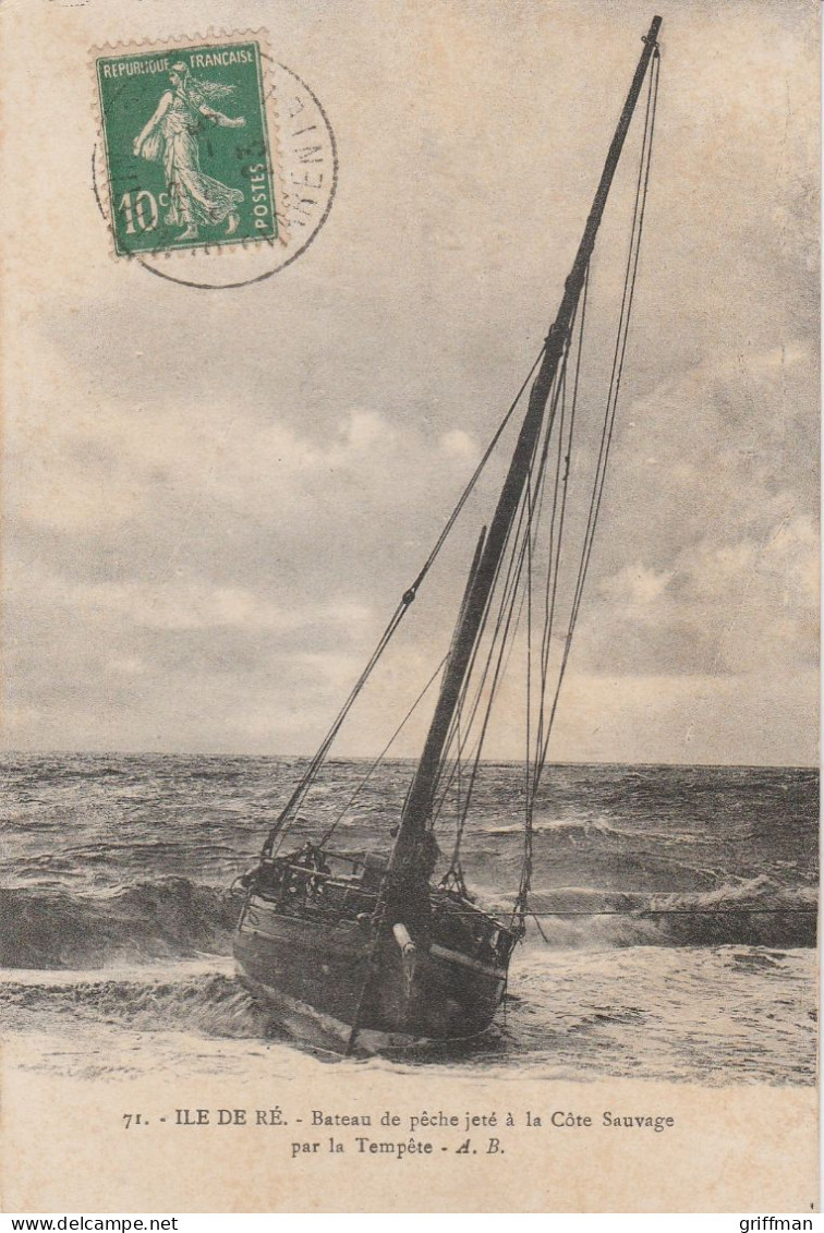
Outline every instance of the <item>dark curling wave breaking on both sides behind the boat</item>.
<svg viewBox="0 0 824 1233">
<path fill-rule="evenodd" d="M 482 898 L 495 911 L 511 909 L 498 896 Z M 0 967 L 100 968 L 228 954 L 239 906 L 231 890 L 171 877 L 105 894 L 0 889 Z M 815 888 L 780 887 L 766 877 L 675 894 L 537 889 L 530 907 L 533 943 L 553 948 L 815 946 Z"/>
</svg>

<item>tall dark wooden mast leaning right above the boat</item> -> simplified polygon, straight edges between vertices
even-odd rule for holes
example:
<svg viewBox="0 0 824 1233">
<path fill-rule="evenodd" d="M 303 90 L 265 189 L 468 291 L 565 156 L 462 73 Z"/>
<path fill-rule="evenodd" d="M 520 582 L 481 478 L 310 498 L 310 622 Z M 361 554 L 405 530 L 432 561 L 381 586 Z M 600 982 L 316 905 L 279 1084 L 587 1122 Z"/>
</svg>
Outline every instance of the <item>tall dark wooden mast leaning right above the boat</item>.
<svg viewBox="0 0 824 1233">
<path fill-rule="evenodd" d="M 474 572 L 470 575 L 470 583 L 464 600 L 461 616 L 455 631 L 451 653 L 444 672 L 438 704 L 435 707 L 429 734 L 427 736 L 421 761 L 418 762 L 414 778 L 403 806 L 398 836 L 392 851 L 390 868 L 396 873 L 402 872 L 416 859 L 416 848 L 423 836 L 427 821 L 432 814 L 433 794 L 438 771 L 443 758 L 444 747 L 451 727 L 451 721 L 458 708 L 464 681 L 472 657 L 472 650 L 484 620 L 484 613 L 495 584 L 498 566 L 506 550 L 507 539 L 512 522 L 521 504 L 521 498 L 529 476 L 532 460 L 540 438 L 544 423 L 544 412 L 549 399 L 553 382 L 558 374 L 559 365 L 564 355 L 564 348 L 569 337 L 575 311 L 579 305 L 583 280 L 596 236 L 601 226 L 607 196 L 616 174 L 618 159 L 624 145 L 627 131 L 635 111 L 635 105 L 640 95 L 646 69 L 656 47 L 657 32 L 661 18 L 654 17 L 649 33 L 644 38 L 644 51 L 638 62 L 633 83 L 627 95 L 624 110 L 620 113 L 618 127 L 612 138 L 607 162 L 601 175 L 592 208 L 583 228 L 583 237 L 579 245 L 572 270 L 566 280 L 564 297 L 555 323 L 546 337 L 544 356 L 538 370 L 538 375 L 529 392 L 527 413 L 524 416 L 518 441 L 512 455 L 509 470 L 503 482 L 503 488 L 498 498 L 495 515 L 490 524 L 488 533 L 484 541 L 480 560 L 474 562 Z"/>
</svg>

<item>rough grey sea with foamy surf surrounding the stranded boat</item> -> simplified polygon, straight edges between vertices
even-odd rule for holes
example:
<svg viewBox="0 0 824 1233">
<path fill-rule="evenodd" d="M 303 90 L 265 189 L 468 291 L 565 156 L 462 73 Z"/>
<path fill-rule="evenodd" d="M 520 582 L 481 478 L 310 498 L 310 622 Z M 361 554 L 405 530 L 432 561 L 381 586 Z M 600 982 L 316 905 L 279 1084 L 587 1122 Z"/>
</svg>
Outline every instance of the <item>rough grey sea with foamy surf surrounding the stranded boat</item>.
<svg viewBox="0 0 824 1233">
<path fill-rule="evenodd" d="M 231 958 L 233 884 L 303 764 L 5 756 L 0 1036 L 41 1039 L 38 1065 L 86 1076 L 174 1071 L 184 1057 L 242 1073 L 253 1055 L 305 1054 Z M 337 821 L 336 850 L 386 850 L 412 766 L 385 762 L 364 783 L 368 769 L 331 761 L 287 845 Z M 444 804 L 444 858 L 465 790 L 454 784 Z M 524 799 L 522 766 L 482 766 L 461 859 L 496 911 L 514 899 Z M 493 1030 L 460 1048 L 334 1064 L 814 1083 L 817 771 L 553 766 L 533 848 L 532 915 Z"/>
</svg>

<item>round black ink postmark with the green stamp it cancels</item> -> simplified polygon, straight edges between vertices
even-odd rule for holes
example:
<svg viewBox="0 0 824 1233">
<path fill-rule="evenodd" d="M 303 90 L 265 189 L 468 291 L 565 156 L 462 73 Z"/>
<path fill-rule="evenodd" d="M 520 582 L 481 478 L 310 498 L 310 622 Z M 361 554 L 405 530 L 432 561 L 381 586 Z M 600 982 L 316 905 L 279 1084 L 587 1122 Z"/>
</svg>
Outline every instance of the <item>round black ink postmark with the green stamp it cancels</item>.
<svg viewBox="0 0 824 1233">
<path fill-rule="evenodd" d="M 226 84 L 212 80 L 228 46 L 233 60 L 255 51 L 257 95 L 233 88 L 231 70 Z M 337 145 L 321 101 L 292 69 L 258 44 L 199 47 L 147 49 L 125 68 L 126 57 L 96 62 L 102 123 L 93 186 L 117 258 L 184 286 L 242 287 L 313 243 L 334 200 Z M 101 83 L 104 72 L 115 80 Z M 126 78 L 120 90 L 117 74 Z"/>
</svg>

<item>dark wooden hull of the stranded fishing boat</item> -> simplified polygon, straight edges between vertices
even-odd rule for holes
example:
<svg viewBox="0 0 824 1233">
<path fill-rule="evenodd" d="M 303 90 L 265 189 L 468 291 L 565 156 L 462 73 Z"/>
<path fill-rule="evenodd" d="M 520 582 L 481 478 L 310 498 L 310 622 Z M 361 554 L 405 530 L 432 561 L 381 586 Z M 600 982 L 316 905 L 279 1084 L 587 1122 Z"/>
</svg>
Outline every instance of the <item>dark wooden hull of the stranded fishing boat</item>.
<svg viewBox="0 0 824 1233">
<path fill-rule="evenodd" d="M 234 954 L 243 981 L 282 1026 L 324 1048 L 344 1048 L 355 1021 L 368 1049 L 461 1039 L 490 1026 L 507 972 L 448 944 L 447 915 L 435 912 L 431 944 L 405 957 L 391 932 L 375 947 L 368 924 L 287 912 L 252 894 Z"/>
</svg>

